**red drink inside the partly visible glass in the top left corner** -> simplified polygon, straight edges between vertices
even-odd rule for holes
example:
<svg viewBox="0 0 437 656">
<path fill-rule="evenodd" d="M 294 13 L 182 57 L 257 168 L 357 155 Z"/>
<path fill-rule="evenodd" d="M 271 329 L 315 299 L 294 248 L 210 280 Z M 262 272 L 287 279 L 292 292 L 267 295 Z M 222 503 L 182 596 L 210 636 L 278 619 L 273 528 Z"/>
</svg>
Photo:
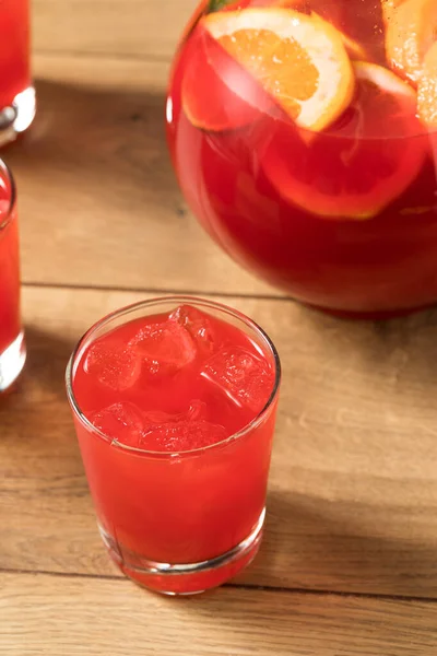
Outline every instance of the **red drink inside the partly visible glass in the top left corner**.
<svg viewBox="0 0 437 656">
<path fill-rule="evenodd" d="M 31 85 L 29 0 L 0 2 L 0 110 Z"/>
</svg>

